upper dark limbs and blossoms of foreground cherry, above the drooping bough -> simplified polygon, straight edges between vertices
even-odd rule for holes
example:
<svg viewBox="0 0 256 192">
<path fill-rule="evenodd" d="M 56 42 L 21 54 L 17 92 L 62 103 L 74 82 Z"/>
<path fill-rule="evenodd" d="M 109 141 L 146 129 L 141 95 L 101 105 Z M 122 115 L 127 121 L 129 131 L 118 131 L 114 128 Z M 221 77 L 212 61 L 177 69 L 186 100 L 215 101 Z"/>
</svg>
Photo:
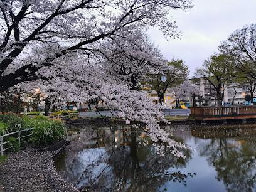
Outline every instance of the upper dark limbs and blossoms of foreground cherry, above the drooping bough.
<svg viewBox="0 0 256 192">
<path fill-rule="evenodd" d="M 188 10 L 189 0 L 11 0 L 1 1 L 0 92 L 24 81 L 43 78 L 38 71 L 55 65 L 70 52 L 97 50 L 97 43 L 120 31 L 157 26 L 166 36 L 178 36 L 171 9 Z M 48 43 L 58 49 L 40 61 L 23 62 L 32 48 Z"/>
</svg>

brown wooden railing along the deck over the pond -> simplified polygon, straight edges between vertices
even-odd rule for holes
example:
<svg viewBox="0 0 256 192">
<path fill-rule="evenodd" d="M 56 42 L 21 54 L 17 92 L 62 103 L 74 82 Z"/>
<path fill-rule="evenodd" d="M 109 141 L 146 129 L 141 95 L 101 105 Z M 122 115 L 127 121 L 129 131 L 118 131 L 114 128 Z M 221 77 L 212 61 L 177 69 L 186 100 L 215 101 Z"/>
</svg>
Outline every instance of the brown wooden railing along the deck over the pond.
<svg viewBox="0 0 256 192">
<path fill-rule="evenodd" d="M 191 107 L 191 116 L 256 114 L 256 106 Z"/>
</svg>

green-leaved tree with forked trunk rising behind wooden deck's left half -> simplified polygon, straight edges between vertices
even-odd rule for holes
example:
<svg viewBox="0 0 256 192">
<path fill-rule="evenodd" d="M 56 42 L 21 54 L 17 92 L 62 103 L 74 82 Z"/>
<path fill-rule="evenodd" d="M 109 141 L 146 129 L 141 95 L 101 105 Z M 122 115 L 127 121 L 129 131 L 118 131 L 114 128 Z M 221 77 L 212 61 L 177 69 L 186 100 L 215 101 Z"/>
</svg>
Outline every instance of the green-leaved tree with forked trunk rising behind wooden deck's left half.
<svg viewBox="0 0 256 192">
<path fill-rule="evenodd" d="M 216 90 L 218 106 L 222 105 L 223 89 L 225 83 L 232 78 L 232 72 L 227 69 L 232 60 L 227 55 L 215 54 L 209 60 L 205 60 L 203 67 L 197 68 L 196 75 L 207 80 Z M 222 92 L 221 92 L 222 89 Z"/>
</svg>

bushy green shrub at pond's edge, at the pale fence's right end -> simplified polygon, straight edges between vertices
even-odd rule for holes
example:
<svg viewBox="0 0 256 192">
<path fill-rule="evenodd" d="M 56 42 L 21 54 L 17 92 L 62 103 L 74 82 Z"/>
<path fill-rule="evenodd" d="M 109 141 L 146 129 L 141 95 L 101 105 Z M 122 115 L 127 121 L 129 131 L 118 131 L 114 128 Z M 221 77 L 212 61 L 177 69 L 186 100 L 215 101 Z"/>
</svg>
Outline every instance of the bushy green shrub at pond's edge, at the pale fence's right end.
<svg viewBox="0 0 256 192">
<path fill-rule="evenodd" d="M 66 128 L 60 120 L 50 120 L 45 116 L 37 116 L 28 122 L 32 130 L 31 141 L 36 146 L 47 146 L 53 141 L 60 141 L 66 136 Z"/>
</svg>

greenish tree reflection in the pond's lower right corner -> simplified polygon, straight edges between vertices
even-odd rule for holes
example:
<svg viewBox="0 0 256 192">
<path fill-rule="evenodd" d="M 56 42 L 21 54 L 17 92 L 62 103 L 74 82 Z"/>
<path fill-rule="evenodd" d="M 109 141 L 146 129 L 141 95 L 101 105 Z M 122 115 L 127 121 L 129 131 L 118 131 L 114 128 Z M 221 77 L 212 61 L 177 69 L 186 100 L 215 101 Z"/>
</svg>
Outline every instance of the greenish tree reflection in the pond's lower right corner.
<svg viewBox="0 0 256 192">
<path fill-rule="evenodd" d="M 213 164 L 227 191 L 256 191 L 255 139 L 211 139 L 200 145 L 200 154 Z"/>
</svg>

